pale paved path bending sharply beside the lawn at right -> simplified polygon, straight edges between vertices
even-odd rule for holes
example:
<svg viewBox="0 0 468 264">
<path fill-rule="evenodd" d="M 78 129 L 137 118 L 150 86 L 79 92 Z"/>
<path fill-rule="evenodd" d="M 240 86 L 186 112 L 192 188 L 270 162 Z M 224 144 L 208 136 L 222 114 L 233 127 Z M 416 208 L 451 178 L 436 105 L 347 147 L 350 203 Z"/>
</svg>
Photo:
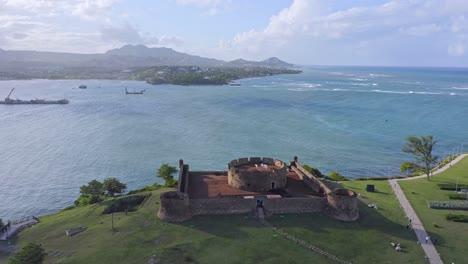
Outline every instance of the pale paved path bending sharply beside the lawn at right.
<svg viewBox="0 0 468 264">
<path fill-rule="evenodd" d="M 459 162 L 463 158 L 468 156 L 468 154 L 462 154 L 458 156 L 456 159 L 452 160 L 450 163 L 445 165 L 444 167 L 435 170 L 432 175 L 436 175 L 438 173 L 441 173 L 448 168 L 450 168 L 453 164 Z M 409 203 L 408 199 L 406 198 L 405 194 L 403 193 L 403 190 L 400 188 L 400 185 L 398 184 L 397 181 L 407 181 L 407 180 L 414 180 L 414 179 L 420 179 L 427 177 L 426 175 L 420 175 L 416 177 L 411 177 L 411 178 L 405 178 L 405 179 L 392 179 L 389 180 L 388 182 L 390 183 L 390 186 L 393 189 L 393 192 L 395 193 L 395 196 L 397 197 L 398 201 L 400 202 L 401 207 L 406 213 L 406 216 L 408 219 L 411 220 L 411 224 L 414 230 L 414 233 L 416 234 L 416 237 L 418 238 L 418 242 L 421 243 L 421 246 L 424 250 L 424 253 L 426 254 L 428 260 L 430 263 L 433 264 L 442 264 L 442 259 L 440 258 L 439 253 L 437 252 L 437 249 L 435 246 L 432 244 L 431 239 L 429 239 L 426 242 L 426 237 L 428 237 L 428 234 L 426 230 L 424 229 L 424 226 L 421 223 L 421 220 L 419 220 L 419 217 L 416 215 L 416 212 L 414 211 L 413 207 L 411 207 L 411 204 Z"/>
</svg>

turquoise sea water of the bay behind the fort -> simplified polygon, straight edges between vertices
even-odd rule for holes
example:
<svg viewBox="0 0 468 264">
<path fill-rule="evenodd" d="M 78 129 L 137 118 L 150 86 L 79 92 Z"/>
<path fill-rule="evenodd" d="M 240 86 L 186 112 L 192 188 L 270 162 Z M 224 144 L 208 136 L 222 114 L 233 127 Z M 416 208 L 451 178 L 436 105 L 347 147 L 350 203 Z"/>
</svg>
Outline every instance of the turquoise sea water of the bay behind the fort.
<svg viewBox="0 0 468 264">
<path fill-rule="evenodd" d="M 0 105 L 0 218 L 56 212 L 92 179 L 152 184 L 161 163 L 180 158 L 225 170 L 239 157 L 297 155 L 366 177 L 399 174 L 408 135 L 433 135 L 440 156 L 468 148 L 468 69 L 306 67 L 240 82 L 1 81 L 2 98 L 15 87 L 13 98 L 70 104 Z"/>
</svg>

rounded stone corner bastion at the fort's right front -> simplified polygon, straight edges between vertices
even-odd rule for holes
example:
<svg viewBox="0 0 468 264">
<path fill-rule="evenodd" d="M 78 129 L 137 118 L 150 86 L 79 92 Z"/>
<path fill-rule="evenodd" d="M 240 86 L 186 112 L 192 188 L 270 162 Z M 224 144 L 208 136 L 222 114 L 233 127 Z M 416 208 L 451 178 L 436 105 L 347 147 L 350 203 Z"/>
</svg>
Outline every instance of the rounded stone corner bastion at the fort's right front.
<svg viewBox="0 0 468 264">
<path fill-rule="evenodd" d="M 338 220 L 354 221 L 359 217 L 357 194 L 348 189 L 335 189 L 327 194 L 326 213 Z"/>
</svg>

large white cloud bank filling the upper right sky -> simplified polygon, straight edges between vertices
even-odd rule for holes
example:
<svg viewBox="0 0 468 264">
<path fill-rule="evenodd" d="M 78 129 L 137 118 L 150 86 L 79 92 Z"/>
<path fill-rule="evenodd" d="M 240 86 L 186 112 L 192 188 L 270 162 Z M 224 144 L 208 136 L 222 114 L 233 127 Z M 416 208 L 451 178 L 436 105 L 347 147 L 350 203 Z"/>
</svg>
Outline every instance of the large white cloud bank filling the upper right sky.
<svg viewBox="0 0 468 264">
<path fill-rule="evenodd" d="M 390 1 L 343 10 L 333 10 L 330 5 L 331 2 L 319 0 L 294 0 L 291 6 L 272 16 L 263 30 L 238 33 L 231 40 L 220 42 L 217 49 L 220 53 L 224 50 L 227 56 L 257 58 L 258 51 L 274 54 L 298 42 L 307 42 L 311 46 L 323 42 L 331 46 L 340 42 L 362 49 L 363 39 L 366 48 L 373 39 L 387 39 L 393 41 L 393 46 L 388 44 L 389 48 L 395 49 L 399 40 L 408 35 L 436 39 L 451 31 L 466 32 L 468 27 L 464 16 L 468 13 L 468 2 L 461 0 Z M 464 48 L 453 44 L 449 52 L 460 56 L 464 54 Z"/>
</svg>

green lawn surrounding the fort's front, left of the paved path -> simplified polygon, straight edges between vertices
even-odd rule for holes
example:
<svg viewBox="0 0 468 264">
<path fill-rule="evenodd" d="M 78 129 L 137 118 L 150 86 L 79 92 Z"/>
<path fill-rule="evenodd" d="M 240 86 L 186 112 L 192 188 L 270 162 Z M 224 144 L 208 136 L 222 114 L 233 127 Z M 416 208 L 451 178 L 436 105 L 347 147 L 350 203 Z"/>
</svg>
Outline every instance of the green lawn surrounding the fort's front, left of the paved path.
<svg viewBox="0 0 468 264">
<path fill-rule="evenodd" d="M 364 191 L 375 184 L 378 192 Z M 414 234 L 386 181 L 350 181 L 346 187 L 361 193 L 361 217 L 341 222 L 323 214 L 273 216 L 268 221 L 299 239 L 353 263 L 417 263 L 424 258 Z M 41 217 L 41 223 L 19 234 L 18 246 L 41 243 L 52 251 L 49 262 L 146 263 L 332 263 L 276 235 L 251 216 L 203 216 L 181 224 L 155 217 L 159 193 L 135 212 L 102 215 L 104 205 L 92 205 Z M 379 209 L 368 208 L 374 203 Z M 65 230 L 85 225 L 88 230 L 67 237 Z M 400 243 L 395 251 L 390 242 Z M 2 260 L 2 259 L 0 259 Z"/>
</svg>

